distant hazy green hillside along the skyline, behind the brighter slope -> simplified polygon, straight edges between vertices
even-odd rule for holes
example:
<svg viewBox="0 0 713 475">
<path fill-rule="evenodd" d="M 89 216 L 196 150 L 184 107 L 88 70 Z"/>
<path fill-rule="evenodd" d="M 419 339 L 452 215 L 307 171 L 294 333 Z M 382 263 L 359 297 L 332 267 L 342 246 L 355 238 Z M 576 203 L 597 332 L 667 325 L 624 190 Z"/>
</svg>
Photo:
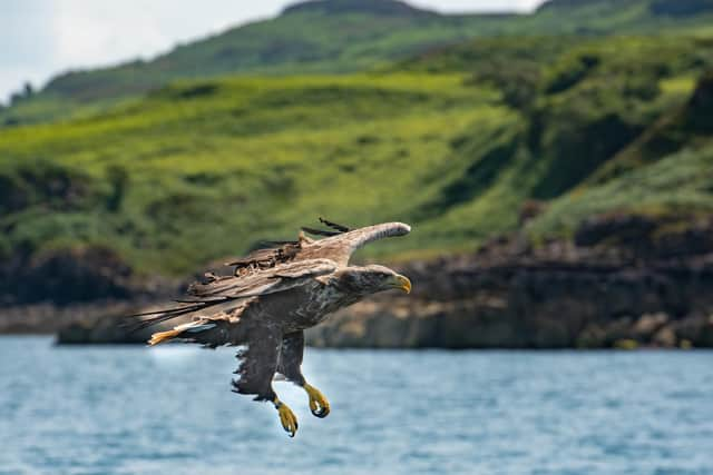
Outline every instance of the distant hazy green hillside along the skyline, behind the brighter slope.
<svg viewBox="0 0 713 475">
<path fill-rule="evenodd" d="M 533 14 L 443 16 L 392 0 L 310 1 L 277 18 L 183 44 L 152 61 L 74 71 L 0 110 L 0 125 L 86 117 L 177 79 L 344 73 L 468 38 L 711 32 L 709 0 L 554 0 Z"/>
</svg>

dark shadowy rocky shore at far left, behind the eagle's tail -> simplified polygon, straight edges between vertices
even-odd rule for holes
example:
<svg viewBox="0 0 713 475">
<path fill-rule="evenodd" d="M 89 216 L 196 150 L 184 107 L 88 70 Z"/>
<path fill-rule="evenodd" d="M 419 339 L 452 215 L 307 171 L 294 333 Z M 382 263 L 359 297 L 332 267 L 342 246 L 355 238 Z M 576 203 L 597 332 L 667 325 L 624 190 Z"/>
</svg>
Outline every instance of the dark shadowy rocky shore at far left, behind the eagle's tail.
<svg viewBox="0 0 713 475">
<path fill-rule="evenodd" d="M 166 300 L 180 287 L 136 276 L 104 247 L 14 256 L 0 261 L 0 334 L 57 334 L 64 343 L 145 342 L 145 334 L 119 325 L 121 316 Z"/>
</svg>

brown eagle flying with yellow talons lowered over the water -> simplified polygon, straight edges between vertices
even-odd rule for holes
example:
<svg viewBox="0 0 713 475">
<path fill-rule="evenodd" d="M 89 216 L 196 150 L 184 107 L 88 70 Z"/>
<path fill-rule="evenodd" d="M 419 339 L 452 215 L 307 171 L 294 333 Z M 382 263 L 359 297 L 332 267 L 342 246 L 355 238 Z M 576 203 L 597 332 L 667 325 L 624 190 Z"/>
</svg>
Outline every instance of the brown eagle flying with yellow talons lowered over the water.
<svg viewBox="0 0 713 475">
<path fill-rule="evenodd" d="M 148 342 L 152 346 L 176 339 L 209 348 L 241 347 L 233 390 L 272 403 L 290 437 L 297 431 L 297 418 L 277 397 L 273 380 L 286 379 L 302 387 L 314 416 L 330 414 L 328 399 L 302 374 L 304 330 L 370 295 L 411 291 L 411 281 L 388 267 L 349 263 L 356 249 L 404 236 L 410 226 L 385 222 L 350 229 L 320 221 L 329 229 L 302 228 L 297 240 L 270 243 L 227 264 L 234 266 L 229 276 L 206 274 L 191 285 L 187 298 L 177 300 L 176 307 L 133 316 L 136 329 L 180 318 L 173 329 L 154 333 Z"/>
</svg>

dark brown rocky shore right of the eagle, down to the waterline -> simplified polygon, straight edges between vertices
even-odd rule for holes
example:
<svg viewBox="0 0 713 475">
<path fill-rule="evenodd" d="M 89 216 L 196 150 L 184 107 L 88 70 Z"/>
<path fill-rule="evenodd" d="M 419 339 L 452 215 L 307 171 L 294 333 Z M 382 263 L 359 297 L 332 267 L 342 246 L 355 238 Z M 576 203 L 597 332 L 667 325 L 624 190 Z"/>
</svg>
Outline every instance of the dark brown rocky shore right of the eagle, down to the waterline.
<svg viewBox="0 0 713 475">
<path fill-rule="evenodd" d="M 413 263 L 412 296 L 384 295 L 310 331 L 316 346 L 606 348 L 713 344 L 713 221 L 609 216 L 576 243 L 499 239 Z M 616 239 L 615 239 L 616 238 Z M 618 240 L 616 245 L 612 243 Z"/>
</svg>

